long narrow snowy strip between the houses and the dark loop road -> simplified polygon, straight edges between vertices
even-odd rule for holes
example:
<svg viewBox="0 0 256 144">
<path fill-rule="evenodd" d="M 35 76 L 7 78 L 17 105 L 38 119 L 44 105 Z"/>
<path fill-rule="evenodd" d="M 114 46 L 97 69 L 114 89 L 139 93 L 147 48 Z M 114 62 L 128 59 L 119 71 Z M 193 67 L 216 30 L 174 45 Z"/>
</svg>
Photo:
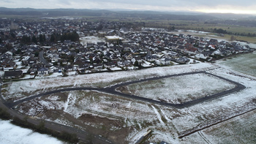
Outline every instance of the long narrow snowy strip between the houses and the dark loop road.
<svg viewBox="0 0 256 144">
<path fill-rule="evenodd" d="M 23 80 L 10 83 L 3 93 L 4 99 L 18 100 L 25 96 L 35 94 L 38 91 L 47 91 L 61 87 L 91 86 L 105 87 L 128 80 L 138 80 L 144 77 L 174 75 L 183 72 L 195 72 L 214 68 L 206 63 L 181 65 L 173 67 L 154 67 L 150 69 L 130 70 L 121 72 L 102 72 L 89 75 L 73 75 L 69 77 L 50 77 L 34 80 Z M 29 93 L 29 94 L 28 94 Z"/>
</svg>

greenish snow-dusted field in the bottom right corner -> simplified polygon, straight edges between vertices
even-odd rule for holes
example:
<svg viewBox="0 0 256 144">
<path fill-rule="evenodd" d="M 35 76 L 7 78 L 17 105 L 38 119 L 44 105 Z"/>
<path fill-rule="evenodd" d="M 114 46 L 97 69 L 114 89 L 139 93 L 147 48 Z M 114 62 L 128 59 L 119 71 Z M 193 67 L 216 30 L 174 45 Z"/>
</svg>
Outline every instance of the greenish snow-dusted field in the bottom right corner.
<svg viewBox="0 0 256 144">
<path fill-rule="evenodd" d="M 216 126 L 211 126 L 203 131 L 205 136 L 215 143 L 256 143 L 256 111 L 246 113 L 232 120 Z M 246 127 L 246 129 L 241 129 Z M 210 138 L 211 137 L 211 138 Z"/>
</svg>

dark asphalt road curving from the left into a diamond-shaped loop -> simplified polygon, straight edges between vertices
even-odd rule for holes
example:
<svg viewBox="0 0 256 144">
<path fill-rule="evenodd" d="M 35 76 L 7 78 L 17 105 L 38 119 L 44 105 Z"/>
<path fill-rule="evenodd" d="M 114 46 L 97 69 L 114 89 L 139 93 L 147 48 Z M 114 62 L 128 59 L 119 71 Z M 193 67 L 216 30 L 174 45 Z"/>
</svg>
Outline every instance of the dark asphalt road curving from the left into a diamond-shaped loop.
<svg viewBox="0 0 256 144">
<path fill-rule="evenodd" d="M 230 83 L 233 83 L 234 85 L 236 85 L 236 87 L 232 88 L 230 90 L 227 90 L 227 91 L 222 91 L 218 94 L 213 94 L 211 96 L 205 96 L 205 97 L 202 97 L 202 98 L 199 98 L 199 99 L 194 99 L 192 101 L 184 102 L 184 103 L 181 103 L 181 104 L 172 104 L 172 103 L 157 101 L 157 100 L 154 100 L 154 99 L 148 99 L 146 97 L 135 96 L 135 95 L 132 95 L 132 94 L 123 94 L 121 92 L 116 91 L 116 88 L 118 88 L 120 86 L 127 86 L 127 85 L 130 85 L 130 84 L 133 84 L 133 83 L 141 83 L 141 82 L 148 81 L 148 80 L 160 80 L 162 78 L 177 77 L 177 76 L 182 76 L 182 75 L 195 75 L 195 74 L 200 74 L 200 73 L 203 73 L 203 74 L 206 74 L 206 75 L 212 75 L 212 76 L 218 77 L 222 80 L 226 80 L 227 82 L 230 82 Z M 227 94 L 231 94 L 231 93 L 234 93 L 234 92 L 241 91 L 244 88 L 246 88 L 246 87 L 244 85 L 241 85 L 241 83 L 236 83 L 233 80 L 228 80 L 228 79 L 226 79 L 224 77 L 220 77 L 218 75 L 213 75 L 213 74 L 205 72 L 205 71 L 200 71 L 200 72 L 187 72 L 187 73 L 176 74 L 176 75 L 167 75 L 167 76 L 162 76 L 162 77 L 151 77 L 151 78 L 146 78 L 146 79 L 143 79 L 143 80 L 134 80 L 134 81 L 131 81 L 131 82 L 121 83 L 121 84 L 118 84 L 118 85 L 115 85 L 115 86 L 110 86 L 110 87 L 107 87 L 107 88 L 89 88 L 89 87 L 63 88 L 63 89 L 59 89 L 59 90 L 55 90 L 55 91 L 48 91 L 48 92 L 45 92 L 45 93 L 42 93 L 42 94 L 34 95 L 34 96 L 28 97 L 26 99 L 21 99 L 21 100 L 16 101 L 16 102 L 6 103 L 6 105 L 8 107 L 14 107 L 15 105 L 19 105 L 22 102 L 29 101 L 29 100 L 34 99 L 36 97 L 45 96 L 45 95 L 48 95 L 48 94 L 55 94 L 55 93 L 59 93 L 59 92 L 62 92 L 62 91 L 97 90 L 97 91 L 103 91 L 103 92 L 106 92 L 106 93 L 109 93 L 109 94 L 116 94 L 118 96 L 124 96 L 124 97 L 130 98 L 130 99 L 138 99 L 138 100 L 142 100 L 142 101 L 146 101 L 146 102 L 151 102 L 151 103 L 155 103 L 155 104 L 158 104 L 158 105 L 165 105 L 165 106 L 176 107 L 176 108 L 184 108 L 184 107 L 190 107 L 192 105 L 197 105 L 201 102 L 206 102 L 206 101 L 209 101 L 211 99 L 217 99 L 221 96 L 226 96 Z"/>
</svg>

